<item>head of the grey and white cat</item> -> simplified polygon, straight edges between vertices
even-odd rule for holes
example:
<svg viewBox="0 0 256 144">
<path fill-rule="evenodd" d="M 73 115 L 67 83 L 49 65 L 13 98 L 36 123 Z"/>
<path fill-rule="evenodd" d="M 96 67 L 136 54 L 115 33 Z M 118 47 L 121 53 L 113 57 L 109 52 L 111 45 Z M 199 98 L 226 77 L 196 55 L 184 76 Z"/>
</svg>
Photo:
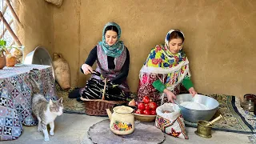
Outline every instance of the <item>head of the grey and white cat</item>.
<svg viewBox="0 0 256 144">
<path fill-rule="evenodd" d="M 63 104 L 62 104 L 62 98 L 59 98 L 58 101 L 52 101 L 50 99 L 49 102 L 49 107 L 50 107 L 50 112 L 60 116 L 63 113 Z"/>
</svg>

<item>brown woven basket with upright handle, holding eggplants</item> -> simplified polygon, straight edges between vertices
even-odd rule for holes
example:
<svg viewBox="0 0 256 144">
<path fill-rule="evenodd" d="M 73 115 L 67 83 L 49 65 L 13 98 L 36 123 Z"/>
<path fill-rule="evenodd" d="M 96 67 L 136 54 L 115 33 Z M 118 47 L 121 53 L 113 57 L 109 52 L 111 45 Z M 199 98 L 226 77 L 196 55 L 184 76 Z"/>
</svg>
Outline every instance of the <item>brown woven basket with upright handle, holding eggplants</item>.
<svg viewBox="0 0 256 144">
<path fill-rule="evenodd" d="M 106 91 L 106 78 L 105 78 L 105 85 L 102 94 L 102 99 L 87 99 L 82 98 L 82 101 L 85 102 L 86 110 L 85 113 L 88 115 L 94 116 L 107 116 L 106 109 L 112 110 L 114 105 L 124 104 L 126 101 L 107 101 L 105 100 L 105 91 Z"/>
</svg>

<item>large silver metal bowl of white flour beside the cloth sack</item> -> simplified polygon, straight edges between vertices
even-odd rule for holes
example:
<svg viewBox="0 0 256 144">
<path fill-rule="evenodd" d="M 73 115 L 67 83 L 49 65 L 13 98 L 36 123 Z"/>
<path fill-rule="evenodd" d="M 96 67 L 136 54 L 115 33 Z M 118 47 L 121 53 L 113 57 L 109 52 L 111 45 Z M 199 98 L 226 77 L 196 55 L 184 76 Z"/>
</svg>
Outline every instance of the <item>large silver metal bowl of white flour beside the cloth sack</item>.
<svg viewBox="0 0 256 144">
<path fill-rule="evenodd" d="M 202 94 L 196 94 L 194 97 L 192 97 L 191 94 L 179 94 L 176 96 L 174 102 L 178 104 L 179 108 L 181 109 L 183 118 L 188 122 L 194 123 L 198 122 L 199 120 L 210 121 L 210 119 L 214 117 L 214 114 L 218 110 L 219 106 L 217 100 Z M 198 102 L 207 106 L 209 110 L 191 110 L 181 106 L 180 104 L 182 102 Z"/>
</svg>

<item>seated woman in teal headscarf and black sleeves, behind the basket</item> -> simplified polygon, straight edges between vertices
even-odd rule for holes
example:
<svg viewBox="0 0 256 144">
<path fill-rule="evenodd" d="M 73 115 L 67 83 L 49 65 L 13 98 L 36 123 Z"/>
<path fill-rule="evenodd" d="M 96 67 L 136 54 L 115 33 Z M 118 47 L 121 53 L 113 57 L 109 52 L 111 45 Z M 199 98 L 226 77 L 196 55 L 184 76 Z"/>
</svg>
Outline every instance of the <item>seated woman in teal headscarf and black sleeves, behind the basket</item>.
<svg viewBox="0 0 256 144">
<path fill-rule="evenodd" d="M 102 80 L 107 78 L 111 84 L 118 85 L 118 87 L 129 94 L 129 86 L 127 85 L 126 78 L 129 72 L 130 54 L 129 50 L 120 41 L 121 28 L 115 22 L 108 22 L 102 30 L 102 41 L 98 42 L 97 46 L 90 51 L 86 62 L 81 66 L 83 74 L 93 74 L 91 79 Z M 97 61 L 97 69 L 93 70 L 91 66 Z M 95 73 L 95 71 L 98 73 Z M 90 82 L 89 82 L 90 83 Z M 88 85 L 88 82 L 86 86 Z M 82 89 L 74 90 L 70 93 L 69 98 L 94 98 L 94 88 L 90 89 L 84 87 Z M 88 91 L 92 91 L 91 95 Z M 89 96 L 88 96 L 89 95 Z"/>
</svg>

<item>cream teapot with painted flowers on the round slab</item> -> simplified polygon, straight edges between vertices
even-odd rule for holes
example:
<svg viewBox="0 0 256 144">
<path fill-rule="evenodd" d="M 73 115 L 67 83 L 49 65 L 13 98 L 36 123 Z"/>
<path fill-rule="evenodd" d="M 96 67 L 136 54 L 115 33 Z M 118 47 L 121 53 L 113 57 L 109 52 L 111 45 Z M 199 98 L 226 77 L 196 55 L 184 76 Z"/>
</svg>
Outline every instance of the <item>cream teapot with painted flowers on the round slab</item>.
<svg viewBox="0 0 256 144">
<path fill-rule="evenodd" d="M 112 114 L 109 109 L 106 110 L 110 118 L 110 130 L 114 134 L 126 135 L 134 132 L 134 109 L 128 106 L 114 107 Z"/>
</svg>

